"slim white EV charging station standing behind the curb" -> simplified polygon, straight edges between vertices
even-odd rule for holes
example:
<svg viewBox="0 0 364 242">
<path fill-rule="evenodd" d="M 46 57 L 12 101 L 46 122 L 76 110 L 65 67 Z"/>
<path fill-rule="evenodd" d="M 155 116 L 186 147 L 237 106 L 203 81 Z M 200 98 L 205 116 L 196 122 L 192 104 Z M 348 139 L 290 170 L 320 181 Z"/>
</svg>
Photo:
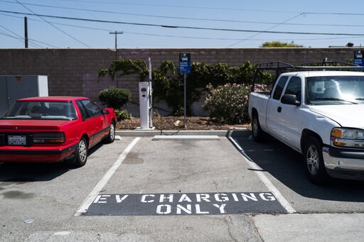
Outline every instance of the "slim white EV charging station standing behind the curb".
<svg viewBox="0 0 364 242">
<path fill-rule="evenodd" d="M 152 91 L 151 88 L 151 58 L 149 62 L 149 82 L 139 82 L 139 112 L 140 127 L 137 130 L 154 130 L 153 127 L 153 109 L 152 109 Z"/>
</svg>

